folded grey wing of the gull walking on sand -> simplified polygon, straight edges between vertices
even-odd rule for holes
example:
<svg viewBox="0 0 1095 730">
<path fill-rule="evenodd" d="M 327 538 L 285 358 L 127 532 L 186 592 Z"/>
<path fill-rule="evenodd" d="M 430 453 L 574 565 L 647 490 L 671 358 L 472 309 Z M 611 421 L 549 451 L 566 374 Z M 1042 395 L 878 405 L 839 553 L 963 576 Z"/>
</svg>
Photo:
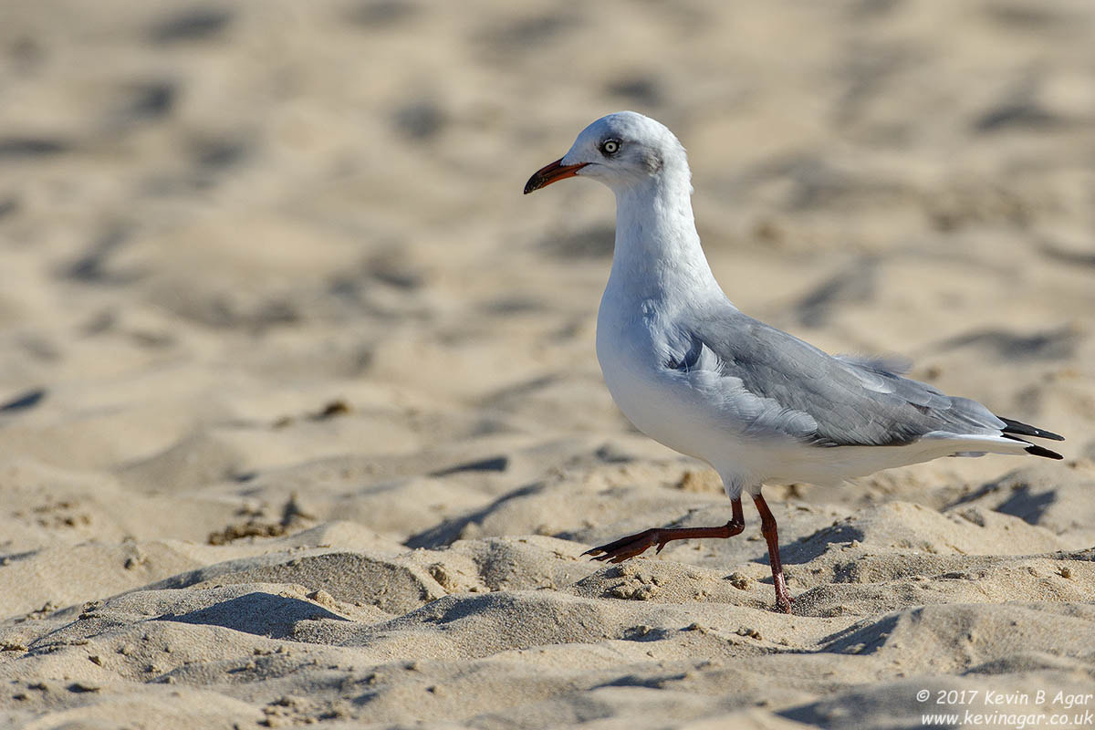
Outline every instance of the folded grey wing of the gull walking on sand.
<svg viewBox="0 0 1095 730">
<path fill-rule="evenodd" d="M 980 403 L 902 378 L 891 363 L 830 356 L 736 310 L 700 317 L 685 337 L 680 367 L 710 350 L 721 375 L 777 405 L 764 417 L 794 424 L 783 430 L 817 445 L 900 445 L 933 431 L 998 436 L 1005 426 Z"/>
</svg>

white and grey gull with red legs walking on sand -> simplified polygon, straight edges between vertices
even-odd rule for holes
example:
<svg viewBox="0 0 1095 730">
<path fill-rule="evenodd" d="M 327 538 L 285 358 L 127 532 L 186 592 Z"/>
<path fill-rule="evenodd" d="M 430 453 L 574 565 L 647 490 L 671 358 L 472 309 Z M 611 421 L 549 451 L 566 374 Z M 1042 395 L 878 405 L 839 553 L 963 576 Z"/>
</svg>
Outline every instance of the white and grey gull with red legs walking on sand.
<svg viewBox="0 0 1095 730">
<path fill-rule="evenodd" d="M 612 269 L 597 314 L 612 399 L 642 432 L 710 464 L 733 510 L 722 526 L 652 528 L 587 555 L 622 563 L 673 540 L 737 535 L 748 493 L 775 607 L 791 613 L 763 484 L 839 484 L 941 456 L 1062 459 L 1023 438 L 1063 441 L 1057 433 L 903 378 L 886 360 L 828 355 L 734 306 L 700 245 L 684 147 L 660 123 L 635 112 L 601 117 L 525 193 L 575 176 L 615 194 Z"/>
</svg>

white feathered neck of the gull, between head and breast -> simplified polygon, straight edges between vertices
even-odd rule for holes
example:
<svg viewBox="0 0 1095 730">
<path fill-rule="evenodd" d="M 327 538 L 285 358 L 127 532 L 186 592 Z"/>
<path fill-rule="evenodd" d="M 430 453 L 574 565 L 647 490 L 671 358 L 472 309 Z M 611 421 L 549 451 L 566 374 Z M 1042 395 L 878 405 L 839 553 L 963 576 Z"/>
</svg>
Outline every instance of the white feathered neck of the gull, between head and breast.
<svg viewBox="0 0 1095 730">
<path fill-rule="evenodd" d="M 615 192 L 609 290 L 625 300 L 672 300 L 722 291 L 700 246 L 688 167 L 665 170 Z"/>
</svg>

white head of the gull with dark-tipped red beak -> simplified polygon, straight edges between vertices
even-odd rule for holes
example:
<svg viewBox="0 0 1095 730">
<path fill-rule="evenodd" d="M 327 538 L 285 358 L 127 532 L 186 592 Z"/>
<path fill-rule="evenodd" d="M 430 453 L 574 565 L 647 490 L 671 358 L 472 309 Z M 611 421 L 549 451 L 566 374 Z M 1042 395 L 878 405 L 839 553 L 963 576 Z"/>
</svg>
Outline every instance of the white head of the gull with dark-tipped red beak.
<svg viewBox="0 0 1095 730">
<path fill-rule="evenodd" d="M 670 172 L 689 174 L 684 148 L 673 132 L 642 114 L 616 112 L 583 129 L 569 152 L 529 178 L 525 194 L 575 175 L 620 192 Z"/>
</svg>

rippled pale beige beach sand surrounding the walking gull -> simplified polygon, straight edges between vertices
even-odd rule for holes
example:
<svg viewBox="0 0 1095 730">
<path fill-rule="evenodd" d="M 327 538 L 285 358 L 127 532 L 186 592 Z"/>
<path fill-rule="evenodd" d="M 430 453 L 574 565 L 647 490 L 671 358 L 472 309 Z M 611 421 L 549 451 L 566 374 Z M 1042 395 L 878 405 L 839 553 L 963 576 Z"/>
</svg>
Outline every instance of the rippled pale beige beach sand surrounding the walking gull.
<svg viewBox="0 0 1095 730">
<path fill-rule="evenodd" d="M 1086 0 L 9 3 L 0 725 L 1095 725 L 1093 33 Z M 611 196 L 521 196 L 620 108 L 689 148 L 741 309 L 1067 459 L 768 488 L 793 616 L 748 506 L 581 557 L 729 514 L 601 382 Z"/>
</svg>

